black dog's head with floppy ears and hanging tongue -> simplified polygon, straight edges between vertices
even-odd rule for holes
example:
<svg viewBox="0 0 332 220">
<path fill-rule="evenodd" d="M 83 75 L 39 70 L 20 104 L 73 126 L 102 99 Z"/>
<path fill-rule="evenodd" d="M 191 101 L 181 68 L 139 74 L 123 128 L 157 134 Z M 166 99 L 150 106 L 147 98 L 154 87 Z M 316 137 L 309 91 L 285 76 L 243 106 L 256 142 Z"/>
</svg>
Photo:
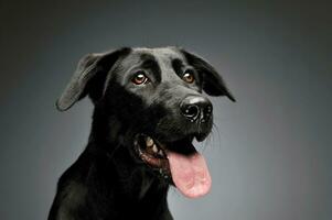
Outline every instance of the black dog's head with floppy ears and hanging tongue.
<svg viewBox="0 0 332 220">
<path fill-rule="evenodd" d="M 189 197 L 208 191 L 211 177 L 192 142 L 211 132 L 213 107 L 202 94 L 235 101 L 217 72 L 178 47 L 121 48 L 89 54 L 57 100 L 64 111 L 89 96 L 105 141 L 120 143 L 135 162 Z"/>
</svg>

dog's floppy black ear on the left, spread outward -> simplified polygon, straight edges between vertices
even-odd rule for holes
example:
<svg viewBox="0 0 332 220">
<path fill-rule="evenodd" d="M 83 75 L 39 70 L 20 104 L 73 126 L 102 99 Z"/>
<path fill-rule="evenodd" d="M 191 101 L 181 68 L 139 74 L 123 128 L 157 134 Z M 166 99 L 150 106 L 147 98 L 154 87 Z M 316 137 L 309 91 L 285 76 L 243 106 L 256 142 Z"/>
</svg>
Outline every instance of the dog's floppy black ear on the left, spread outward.
<svg viewBox="0 0 332 220">
<path fill-rule="evenodd" d="M 76 101 L 89 96 L 95 103 L 103 97 L 107 73 L 113 65 L 121 57 L 130 53 L 130 48 L 121 48 L 100 54 L 87 54 L 77 65 L 72 79 L 60 99 L 56 108 L 60 111 L 69 109 Z"/>
</svg>

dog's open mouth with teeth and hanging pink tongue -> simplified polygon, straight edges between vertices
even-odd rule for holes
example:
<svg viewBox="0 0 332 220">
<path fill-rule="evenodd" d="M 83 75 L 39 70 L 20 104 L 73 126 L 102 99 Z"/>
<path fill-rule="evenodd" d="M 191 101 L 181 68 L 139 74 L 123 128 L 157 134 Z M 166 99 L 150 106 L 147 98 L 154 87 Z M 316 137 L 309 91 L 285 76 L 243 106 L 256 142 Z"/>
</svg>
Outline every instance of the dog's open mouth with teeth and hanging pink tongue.
<svg viewBox="0 0 332 220">
<path fill-rule="evenodd" d="M 164 178 L 171 178 L 176 188 L 186 197 L 206 195 L 211 188 L 211 176 L 204 157 L 184 139 L 162 144 L 158 140 L 138 134 L 135 146 L 139 157 Z"/>
</svg>

